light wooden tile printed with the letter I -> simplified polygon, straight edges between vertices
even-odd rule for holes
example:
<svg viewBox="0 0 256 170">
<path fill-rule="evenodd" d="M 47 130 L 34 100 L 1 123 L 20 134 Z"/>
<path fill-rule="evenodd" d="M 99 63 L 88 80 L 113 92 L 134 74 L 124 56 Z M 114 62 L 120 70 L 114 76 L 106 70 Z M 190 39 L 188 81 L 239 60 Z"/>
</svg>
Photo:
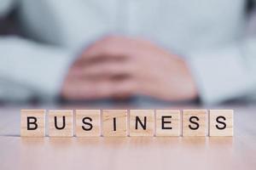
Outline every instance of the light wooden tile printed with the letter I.
<svg viewBox="0 0 256 170">
<path fill-rule="evenodd" d="M 127 136 L 127 110 L 103 110 L 102 135 Z"/>
</svg>

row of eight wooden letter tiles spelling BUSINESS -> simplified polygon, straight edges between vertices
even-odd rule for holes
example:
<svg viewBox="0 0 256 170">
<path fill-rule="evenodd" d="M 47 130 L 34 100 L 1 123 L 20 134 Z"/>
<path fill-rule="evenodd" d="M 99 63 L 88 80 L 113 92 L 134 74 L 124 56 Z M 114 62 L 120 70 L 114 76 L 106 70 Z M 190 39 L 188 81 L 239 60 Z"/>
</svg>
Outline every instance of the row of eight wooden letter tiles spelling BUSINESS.
<svg viewBox="0 0 256 170">
<path fill-rule="evenodd" d="M 45 117 L 45 110 L 21 110 L 20 136 L 44 137 Z M 48 124 L 49 137 L 71 137 L 73 127 L 77 137 L 207 136 L 207 132 L 233 136 L 233 111 L 76 110 L 73 115 L 72 110 L 55 110 L 48 111 Z"/>
</svg>

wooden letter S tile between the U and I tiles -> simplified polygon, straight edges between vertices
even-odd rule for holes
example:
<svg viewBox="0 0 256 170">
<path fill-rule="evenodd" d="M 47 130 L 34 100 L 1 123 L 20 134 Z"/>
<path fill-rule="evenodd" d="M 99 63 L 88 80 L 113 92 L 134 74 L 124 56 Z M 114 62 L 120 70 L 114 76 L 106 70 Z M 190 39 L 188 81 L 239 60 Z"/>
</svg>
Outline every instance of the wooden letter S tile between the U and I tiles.
<svg viewBox="0 0 256 170">
<path fill-rule="evenodd" d="M 76 110 L 76 136 L 100 136 L 100 110 Z"/>
</svg>

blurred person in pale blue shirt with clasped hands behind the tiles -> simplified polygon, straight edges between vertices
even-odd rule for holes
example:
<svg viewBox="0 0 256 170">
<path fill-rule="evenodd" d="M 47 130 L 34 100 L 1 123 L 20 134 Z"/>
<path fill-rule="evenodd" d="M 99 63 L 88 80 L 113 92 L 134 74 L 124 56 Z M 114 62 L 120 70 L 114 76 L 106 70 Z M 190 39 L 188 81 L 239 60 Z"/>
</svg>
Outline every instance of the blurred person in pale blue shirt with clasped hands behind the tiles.
<svg viewBox="0 0 256 170">
<path fill-rule="evenodd" d="M 1 0 L 0 100 L 253 99 L 253 3 Z"/>
</svg>

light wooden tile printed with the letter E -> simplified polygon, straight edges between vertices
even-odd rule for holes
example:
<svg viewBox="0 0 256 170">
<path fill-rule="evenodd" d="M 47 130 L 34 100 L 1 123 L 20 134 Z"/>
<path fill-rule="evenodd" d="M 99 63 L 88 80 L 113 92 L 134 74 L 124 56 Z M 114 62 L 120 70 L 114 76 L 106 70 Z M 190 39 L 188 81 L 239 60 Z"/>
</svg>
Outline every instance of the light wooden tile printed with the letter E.
<svg viewBox="0 0 256 170">
<path fill-rule="evenodd" d="M 155 118 L 156 136 L 179 136 L 179 110 L 157 110 Z"/>
</svg>

